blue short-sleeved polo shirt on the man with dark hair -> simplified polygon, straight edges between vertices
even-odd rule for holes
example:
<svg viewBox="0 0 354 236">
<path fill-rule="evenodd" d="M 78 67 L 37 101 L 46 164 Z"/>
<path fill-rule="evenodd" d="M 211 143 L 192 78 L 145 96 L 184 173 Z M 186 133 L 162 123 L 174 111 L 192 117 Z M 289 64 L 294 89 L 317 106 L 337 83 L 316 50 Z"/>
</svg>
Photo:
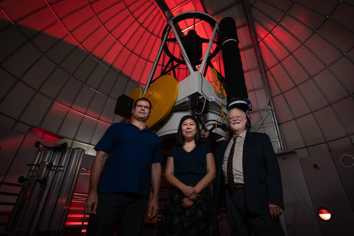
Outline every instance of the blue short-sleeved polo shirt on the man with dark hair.
<svg viewBox="0 0 354 236">
<path fill-rule="evenodd" d="M 149 198 L 152 163 L 162 163 L 160 138 L 150 129 L 142 131 L 131 122 L 108 127 L 95 146 L 108 157 L 97 192 L 137 192 Z"/>
</svg>

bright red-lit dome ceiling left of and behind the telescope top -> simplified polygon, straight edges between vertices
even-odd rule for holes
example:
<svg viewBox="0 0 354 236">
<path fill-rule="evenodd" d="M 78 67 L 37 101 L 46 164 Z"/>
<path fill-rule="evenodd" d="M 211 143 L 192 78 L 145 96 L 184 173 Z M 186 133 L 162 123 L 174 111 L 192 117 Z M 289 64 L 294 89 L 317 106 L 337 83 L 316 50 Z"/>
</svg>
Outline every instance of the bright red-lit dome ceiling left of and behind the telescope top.
<svg viewBox="0 0 354 236">
<path fill-rule="evenodd" d="M 19 4 L 22 7 L 17 7 Z M 194 10 L 204 12 L 200 0 L 166 1 L 166 4 L 173 15 Z M 148 79 L 166 25 L 162 11 L 150 0 L 11 0 L 2 1 L 0 6 L 2 19 L 35 30 L 28 32 L 30 38 L 43 32 L 81 47 L 106 67 L 124 73 L 141 86 Z M 180 22 L 179 26 L 185 32 L 193 27 L 193 20 Z M 208 24 L 198 21 L 195 29 L 203 38 L 210 37 L 212 32 Z M 175 51 L 179 51 L 178 47 Z M 156 76 L 161 63 L 162 58 Z M 216 68 L 218 64 L 215 63 Z M 181 80 L 188 76 L 188 70 L 185 66 L 179 68 L 177 79 Z"/>
</svg>

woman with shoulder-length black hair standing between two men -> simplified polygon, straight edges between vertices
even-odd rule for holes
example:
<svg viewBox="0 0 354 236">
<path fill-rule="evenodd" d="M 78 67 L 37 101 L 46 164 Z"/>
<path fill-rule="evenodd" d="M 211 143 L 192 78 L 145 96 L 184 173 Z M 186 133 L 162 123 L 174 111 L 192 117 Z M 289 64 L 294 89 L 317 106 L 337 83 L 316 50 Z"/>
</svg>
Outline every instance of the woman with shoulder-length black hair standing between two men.
<svg viewBox="0 0 354 236">
<path fill-rule="evenodd" d="M 201 143 L 193 116 L 183 116 L 179 122 L 176 146 L 167 154 L 165 176 L 171 188 L 158 235 L 220 235 L 208 188 L 215 178 L 215 161 L 209 144 Z"/>
</svg>

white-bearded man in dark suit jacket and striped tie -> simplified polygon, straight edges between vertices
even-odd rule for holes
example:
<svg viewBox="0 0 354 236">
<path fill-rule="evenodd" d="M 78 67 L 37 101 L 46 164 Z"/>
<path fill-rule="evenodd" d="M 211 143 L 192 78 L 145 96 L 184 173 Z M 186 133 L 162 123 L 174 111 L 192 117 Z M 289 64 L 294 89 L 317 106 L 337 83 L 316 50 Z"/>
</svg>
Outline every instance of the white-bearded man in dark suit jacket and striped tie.
<svg viewBox="0 0 354 236">
<path fill-rule="evenodd" d="M 232 235 L 282 236 L 279 216 L 284 208 L 281 177 L 267 134 L 247 132 L 246 114 L 228 113 L 233 135 L 215 150 L 213 206 L 227 211 Z"/>
</svg>

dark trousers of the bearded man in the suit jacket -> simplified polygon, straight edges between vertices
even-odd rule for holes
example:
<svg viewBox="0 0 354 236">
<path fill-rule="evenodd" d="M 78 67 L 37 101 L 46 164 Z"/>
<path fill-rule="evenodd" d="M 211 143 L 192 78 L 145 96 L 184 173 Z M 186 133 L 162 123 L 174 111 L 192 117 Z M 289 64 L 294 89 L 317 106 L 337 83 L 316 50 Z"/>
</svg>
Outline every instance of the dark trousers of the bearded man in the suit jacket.
<svg viewBox="0 0 354 236">
<path fill-rule="evenodd" d="M 255 215 L 247 210 L 245 189 L 226 189 L 227 220 L 232 235 L 237 236 L 285 236 L 280 220 L 270 215 Z"/>
</svg>

